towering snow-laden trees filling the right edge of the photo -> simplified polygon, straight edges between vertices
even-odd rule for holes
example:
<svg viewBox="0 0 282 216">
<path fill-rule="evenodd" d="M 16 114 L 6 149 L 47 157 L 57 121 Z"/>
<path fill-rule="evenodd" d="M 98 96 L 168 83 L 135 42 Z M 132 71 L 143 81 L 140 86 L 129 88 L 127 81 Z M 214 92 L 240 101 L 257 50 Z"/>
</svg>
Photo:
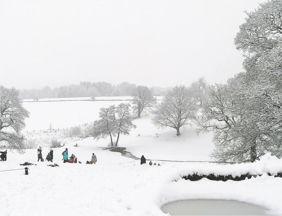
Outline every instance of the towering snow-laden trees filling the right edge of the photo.
<svg viewBox="0 0 282 216">
<path fill-rule="evenodd" d="M 282 156 L 282 2 L 246 12 L 235 46 L 244 72 L 210 86 L 198 131 L 214 131 L 218 161 L 255 161 L 265 152 Z"/>
</svg>

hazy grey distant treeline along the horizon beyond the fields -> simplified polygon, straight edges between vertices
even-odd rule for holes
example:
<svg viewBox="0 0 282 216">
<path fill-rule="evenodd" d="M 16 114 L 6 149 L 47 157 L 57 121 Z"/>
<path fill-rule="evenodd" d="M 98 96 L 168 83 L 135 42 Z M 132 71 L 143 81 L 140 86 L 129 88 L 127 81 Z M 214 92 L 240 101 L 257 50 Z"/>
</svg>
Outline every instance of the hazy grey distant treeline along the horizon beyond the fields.
<svg viewBox="0 0 282 216">
<path fill-rule="evenodd" d="M 36 98 L 71 98 L 71 97 L 98 97 L 98 96 L 131 96 L 135 84 L 122 82 L 118 85 L 113 85 L 109 82 L 80 82 L 79 85 L 72 84 L 69 86 L 60 86 L 59 88 L 51 89 L 45 86 L 42 89 L 21 90 L 21 99 L 36 99 Z M 161 88 L 158 86 L 151 87 L 153 96 L 163 96 L 167 90 L 172 87 Z"/>
</svg>

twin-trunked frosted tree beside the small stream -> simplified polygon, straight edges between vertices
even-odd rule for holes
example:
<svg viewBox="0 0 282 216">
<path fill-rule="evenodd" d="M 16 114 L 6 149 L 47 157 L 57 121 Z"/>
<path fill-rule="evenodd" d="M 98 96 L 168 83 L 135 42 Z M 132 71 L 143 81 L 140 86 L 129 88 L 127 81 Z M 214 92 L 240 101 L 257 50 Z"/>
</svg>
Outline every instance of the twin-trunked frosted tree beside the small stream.
<svg viewBox="0 0 282 216">
<path fill-rule="evenodd" d="M 99 112 L 100 120 L 93 124 L 94 139 L 105 139 L 110 136 L 112 146 L 117 146 L 120 135 L 129 135 L 132 128 L 136 126 L 130 118 L 130 104 L 121 103 L 118 106 L 112 105 L 108 108 L 101 108 Z M 116 142 L 113 137 L 117 136 Z"/>
</svg>

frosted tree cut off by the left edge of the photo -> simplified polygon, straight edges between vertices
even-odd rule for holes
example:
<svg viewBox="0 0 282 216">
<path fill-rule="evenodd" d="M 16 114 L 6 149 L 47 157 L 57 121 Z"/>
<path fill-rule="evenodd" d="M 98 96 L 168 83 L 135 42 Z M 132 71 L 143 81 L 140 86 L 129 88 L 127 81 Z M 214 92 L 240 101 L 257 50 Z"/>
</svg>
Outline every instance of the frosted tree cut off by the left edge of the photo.
<svg viewBox="0 0 282 216">
<path fill-rule="evenodd" d="M 8 148 L 23 153 L 25 146 L 21 130 L 25 128 L 25 118 L 29 117 L 29 112 L 23 107 L 18 95 L 19 91 L 15 88 L 1 85 L 0 140 Z"/>
</svg>

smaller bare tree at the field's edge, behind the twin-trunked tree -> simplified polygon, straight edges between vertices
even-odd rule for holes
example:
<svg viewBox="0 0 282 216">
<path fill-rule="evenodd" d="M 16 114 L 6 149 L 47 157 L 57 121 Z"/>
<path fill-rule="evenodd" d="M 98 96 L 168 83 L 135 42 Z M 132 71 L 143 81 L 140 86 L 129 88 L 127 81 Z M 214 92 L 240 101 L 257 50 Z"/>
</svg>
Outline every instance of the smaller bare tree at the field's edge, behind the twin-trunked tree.
<svg viewBox="0 0 282 216">
<path fill-rule="evenodd" d="M 133 110 L 138 113 L 138 118 L 141 116 L 142 111 L 151 110 L 157 101 L 147 86 L 137 86 L 132 97 L 131 103 L 134 105 Z"/>
</svg>

